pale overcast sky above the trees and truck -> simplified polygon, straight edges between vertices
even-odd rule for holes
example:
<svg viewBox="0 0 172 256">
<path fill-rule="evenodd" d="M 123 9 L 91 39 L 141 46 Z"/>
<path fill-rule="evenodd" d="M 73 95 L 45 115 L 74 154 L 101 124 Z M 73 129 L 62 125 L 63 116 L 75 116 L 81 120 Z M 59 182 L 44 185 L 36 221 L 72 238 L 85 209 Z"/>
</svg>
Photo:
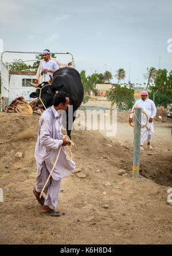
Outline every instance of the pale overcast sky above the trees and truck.
<svg viewBox="0 0 172 256">
<path fill-rule="evenodd" d="M 161 68 L 172 70 L 172 52 L 167 52 L 167 40 L 172 38 L 170 0 L 0 3 L 4 51 L 40 52 L 48 48 L 52 52 L 71 52 L 79 72 L 86 70 L 90 75 L 107 69 L 114 75 L 118 68 L 124 68 L 126 83 L 129 63 L 132 83 L 145 82 L 147 67 L 159 68 L 160 64 Z M 58 59 L 63 60 L 62 56 Z M 69 56 L 68 60 L 71 61 Z"/>
</svg>

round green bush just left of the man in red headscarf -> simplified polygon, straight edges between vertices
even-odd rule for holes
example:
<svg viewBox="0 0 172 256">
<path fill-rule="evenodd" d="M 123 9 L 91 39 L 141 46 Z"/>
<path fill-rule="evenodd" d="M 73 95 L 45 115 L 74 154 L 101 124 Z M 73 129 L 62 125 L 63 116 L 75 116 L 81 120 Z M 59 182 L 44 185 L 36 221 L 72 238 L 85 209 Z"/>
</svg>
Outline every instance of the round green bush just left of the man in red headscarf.
<svg viewBox="0 0 172 256">
<path fill-rule="evenodd" d="M 114 89 L 106 92 L 106 97 L 110 101 L 115 101 L 118 110 L 130 110 L 135 103 L 134 90 L 127 88 L 127 86 L 120 86 L 115 83 Z"/>
</svg>

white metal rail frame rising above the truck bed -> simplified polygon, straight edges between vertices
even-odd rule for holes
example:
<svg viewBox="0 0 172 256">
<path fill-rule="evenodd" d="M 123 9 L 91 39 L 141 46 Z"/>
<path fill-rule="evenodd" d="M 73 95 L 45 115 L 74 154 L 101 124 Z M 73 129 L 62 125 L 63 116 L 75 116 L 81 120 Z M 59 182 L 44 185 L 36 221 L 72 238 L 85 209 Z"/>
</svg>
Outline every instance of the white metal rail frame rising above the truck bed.
<svg viewBox="0 0 172 256">
<path fill-rule="evenodd" d="M 5 53 L 13 53 L 13 54 L 42 54 L 42 52 L 16 52 L 16 51 L 4 51 L 1 54 L 1 68 L 2 68 L 2 63 L 3 63 L 3 54 Z M 73 60 L 73 55 L 70 52 L 50 52 L 50 54 L 69 54 L 72 56 L 72 62 L 75 65 L 75 62 Z M 23 62 L 28 62 L 28 61 L 33 61 L 33 60 L 21 60 Z M 10 62 L 10 63 L 15 63 L 15 62 Z M 9 71 L 9 68 L 8 68 Z M 4 102 L 4 97 L 2 97 L 2 74 L 1 74 L 1 112 L 3 110 L 3 102 Z"/>
</svg>

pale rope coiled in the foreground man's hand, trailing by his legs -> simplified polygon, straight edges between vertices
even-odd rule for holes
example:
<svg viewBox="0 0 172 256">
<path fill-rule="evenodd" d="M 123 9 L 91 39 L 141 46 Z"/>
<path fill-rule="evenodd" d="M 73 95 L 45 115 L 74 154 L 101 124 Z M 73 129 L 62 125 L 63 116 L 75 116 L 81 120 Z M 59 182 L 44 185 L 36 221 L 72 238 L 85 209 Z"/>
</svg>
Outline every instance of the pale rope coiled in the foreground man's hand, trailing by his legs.
<svg viewBox="0 0 172 256">
<path fill-rule="evenodd" d="M 72 148 L 72 146 L 74 146 L 74 143 L 72 142 L 72 140 L 69 138 L 68 135 L 63 135 L 63 134 L 62 134 L 62 139 L 64 139 L 64 138 L 66 138 L 67 140 L 70 141 L 69 147 L 68 147 L 68 145 L 66 146 L 66 147 L 68 148 L 67 155 L 66 155 L 66 159 L 67 159 L 68 161 L 70 161 L 70 160 L 72 159 L 72 151 L 71 151 L 71 148 Z M 41 199 L 42 193 L 44 192 L 44 189 L 45 189 L 46 185 L 48 184 L 49 179 L 50 179 L 50 177 L 51 177 L 51 175 L 52 175 L 52 173 L 53 173 L 54 167 L 56 166 L 56 163 L 57 163 L 57 160 L 58 160 L 58 156 L 60 155 L 61 148 L 62 148 L 62 145 L 60 146 L 60 148 L 59 148 L 59 150 L 58 150 L 58 154 L 57 154 L 56 161 L 55 161 L 55 163 L 54 163 L 54 165 L 53 165 L 52 170 L 50 171 L 50 174 L 49 174 L 48 179 L 47 179 L 46 182 L 45 182 L 44 188 L 43 188 L 42 191 L 41 191 L 40 199 Z M 69 154 L 71 155 L 70 157 L 69 157 Z M 69 157 L 69 158 L 68 158 L 68 157 Z"/>
</svg>

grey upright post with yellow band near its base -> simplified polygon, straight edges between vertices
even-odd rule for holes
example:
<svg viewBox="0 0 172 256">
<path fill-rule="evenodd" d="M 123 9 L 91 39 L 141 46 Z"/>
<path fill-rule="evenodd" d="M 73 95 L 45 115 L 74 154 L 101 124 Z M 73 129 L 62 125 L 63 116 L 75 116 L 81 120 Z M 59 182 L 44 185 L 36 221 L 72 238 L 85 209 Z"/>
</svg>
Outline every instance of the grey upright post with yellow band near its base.
<svg viewBox="0 0 172 256">
<path fill-rule="evenodd" d="M 136 108 L 136 116 L 141 124 L 142 120 L 142 108 Z M 132 166 L 132 178 L 139 177 L 139 165 L 140 165 L 140 124 L 135 117 L 134 128 L 134 150 L 133 150 L 133 166 Z"/>
</svg>

